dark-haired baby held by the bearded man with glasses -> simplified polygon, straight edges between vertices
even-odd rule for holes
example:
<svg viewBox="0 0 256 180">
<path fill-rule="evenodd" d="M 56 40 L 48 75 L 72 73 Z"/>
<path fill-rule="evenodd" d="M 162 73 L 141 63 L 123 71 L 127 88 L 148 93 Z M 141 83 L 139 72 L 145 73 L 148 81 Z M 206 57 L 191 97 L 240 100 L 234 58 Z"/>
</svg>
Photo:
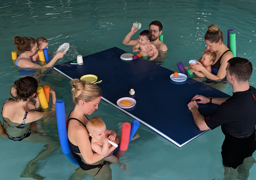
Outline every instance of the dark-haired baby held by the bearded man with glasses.
<svg viewBox="0 0 256 180">
<path fill-rule="evenodd" d="M 143 57 L 143 56 L 147 56 L 147 54 L 143 52 L 143 51 L 145 51 L 145 48 L 147 46 L 152 46 L 154 54 L 153 54 L 153 57 L 151 57 L 149 59 L 150 61 L 154 60 L 158 56 L 158 50 L 157 50 L 156 46 L 153 43 L 151 43 L 151 38 L 152 38 L 152 34 L 150 31 L 148 31 L 148 30 L 141 31 L 139 38 L 138 38 L 138 43 L 135 46 L 133 46 L 133 48 L 132 48 L 133 52 L 140 51 L 140 54 Z M 140 49 L 140 50 L 138 50 L 138 49 Z"/>
</svg>

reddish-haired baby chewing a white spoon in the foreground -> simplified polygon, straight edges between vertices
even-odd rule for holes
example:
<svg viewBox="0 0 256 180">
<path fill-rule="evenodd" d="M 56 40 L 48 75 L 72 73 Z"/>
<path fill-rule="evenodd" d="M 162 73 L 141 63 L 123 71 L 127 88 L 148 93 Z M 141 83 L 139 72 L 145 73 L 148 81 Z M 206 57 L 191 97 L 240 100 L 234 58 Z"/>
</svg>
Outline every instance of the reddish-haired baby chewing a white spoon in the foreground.
<svg viewBox="0 0 256 180">
<path fill-rule="evenodd" d="M 92 150 L 99 155 L 107 155 L 109 147 L 111 144 L 108 140 L 119 144 L 121 141 L 121 136 L 117 136 L 116 132 L 113 130 L 106 129 L 106 124 L 99 117 L 91 118 L 87 124 L 86 128 L 89 132 L 89 135 L 92 137 L 91 146 Z M 125 170 L 126 165 L 119 162 L 118 158 L 113 155 L 112 151 L 108 156 L 103 160 L 112 162 L 114 165 L 119 166 L 122 170 Z"/>
</svg>

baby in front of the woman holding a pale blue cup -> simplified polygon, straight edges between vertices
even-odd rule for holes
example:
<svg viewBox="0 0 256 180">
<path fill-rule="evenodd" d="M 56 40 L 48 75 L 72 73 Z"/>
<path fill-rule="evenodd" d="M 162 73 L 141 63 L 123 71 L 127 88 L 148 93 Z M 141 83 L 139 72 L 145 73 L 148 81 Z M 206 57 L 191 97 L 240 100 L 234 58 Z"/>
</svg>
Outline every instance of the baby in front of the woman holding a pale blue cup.
<svg viewBox="0 0 256 180">
<path fill-rule="evenodd" d="M 204 52 L 202 55 L 202 59 L 201 59 L 201 64 L 205 67 L 205 69 L 207 71 L 209 71 L 211 73 L 211 64 L 214 63 L 216 59 L 216 54 L 214 52 Z M 188 68 L 191 68 L 191 66 L 184 66 L 184 68 L 187 70 Z M 197 76 L 199 77 L 205 77 L 205 74 L 202 73 L 201 71 L 196 71 L 194 69 L 190 69 L 190 72 L 194 72 Z"/>
</svg>

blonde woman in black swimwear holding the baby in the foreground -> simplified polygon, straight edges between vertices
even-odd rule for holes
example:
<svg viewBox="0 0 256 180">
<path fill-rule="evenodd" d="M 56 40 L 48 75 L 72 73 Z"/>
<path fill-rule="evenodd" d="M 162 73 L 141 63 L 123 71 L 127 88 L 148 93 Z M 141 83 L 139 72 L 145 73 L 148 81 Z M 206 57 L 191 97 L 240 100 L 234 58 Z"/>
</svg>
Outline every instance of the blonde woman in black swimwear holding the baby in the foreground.
<svg viewBox="0 0 256 180">
<path fill-rule="evenodd" d="M 71 149 L 78 158 L 80 168 L 72 175 L 70 179 L 82 179 L 89 174 L 94 180 L 112 179 L 112 171 L 106 161 L 102 160 L 105 156 L 93 153 L 89 139 L 89 133 L 86 129 L 88 118 L 101 100 L 101 89 L 93 84 L 73 79 L 71 81 L 74 109 L 68 117 L 68 139 Z M 109 147 L 108 155 L 115 149 Z"/>
</svg>

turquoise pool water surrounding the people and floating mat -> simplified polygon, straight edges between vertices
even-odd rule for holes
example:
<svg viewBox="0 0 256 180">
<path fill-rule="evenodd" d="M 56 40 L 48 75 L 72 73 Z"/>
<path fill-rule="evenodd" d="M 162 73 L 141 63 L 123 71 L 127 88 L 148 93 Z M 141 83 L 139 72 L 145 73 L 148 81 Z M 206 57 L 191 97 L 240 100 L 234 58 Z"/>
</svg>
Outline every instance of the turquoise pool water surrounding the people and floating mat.
<svg viewBox="0 0 256 180">
<path fill-rule="evenodd" d="M 57 63 L 72 60 L 73 54 L 90 55 L 102 50 L 119 47 L 132 52 L 131 46 L 122 44 L 132 22 L 140 21 L 142 30 L 159 20 L 163 24 L 164 42 L 168 58 L 163 67 L 177 71 L 176 63 L 198 59 L 205 49 L 204 33 L 207 26 L 216 24 L 224 34 L 236 32 L 237 56 L 249 59 L 253 64 L 250 85 L 255 86 L 255 1 L 0 1 L 0 102 L 9 95 L 10 86 L 20 78 L 11 60 L 14 36 L 43 36 L 49 41 L 49 51 L 63 43 L 70 43 L 69 56 Z M 138 37 L 138 33 L 134 38 Z M 53 69 L 36 76 L 41 84 L 56 91 L 57 98 L 66 102 L 66 113 L 73 107 L 69 80 Z M 215 87 L 215 86 L 213 86 Z M 229 84 L 216 86 L 232 94 Z M 189 101 L 189 100 L 188 100 Z M 132 122 L 132 118 L 103 100 L 93 116 L 101 117 L 109 129 L 119 122 Z M 1 119 L 2 121 L 2 119 Z M 161 121 L 161 120 L 157 120 Z M 43 125 L 48 135 L 58 138 L 56 121 Z M 141 135 L 132 142 L 120 162 L 126 171 L 110 165 L 113 179 L 223 179 L 221 145 L 224 135 L 220 127 L 208 131 L 182 148 L 141 125 Z M 14 142 L 0 138 L 1 179 L 24 179 L 20 174 L 28 162 L 44 149 L 44 144 Z M 256 153 L 253 154 L 256 158 Z M 38 162 L 39 174 L 45 179 L 69 179 L 77 166 L 71 164 L 60 148 Z M 256 178 L 256 165 L 250 169 L 250 179 Z M 92 179 L 89 175 L 84 179 Z"/>
</svg>

